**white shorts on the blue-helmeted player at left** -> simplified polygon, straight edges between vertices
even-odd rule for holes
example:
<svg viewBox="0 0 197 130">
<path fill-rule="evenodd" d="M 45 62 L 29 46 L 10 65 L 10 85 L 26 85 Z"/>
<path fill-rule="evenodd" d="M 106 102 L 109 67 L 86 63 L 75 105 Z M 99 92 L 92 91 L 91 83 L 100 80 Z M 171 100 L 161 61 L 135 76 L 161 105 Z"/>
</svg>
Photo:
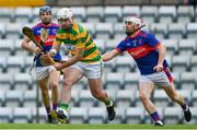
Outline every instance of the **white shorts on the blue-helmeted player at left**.
<svg viewBox="0 0 197 130">
<path fill-rule="evenodd" d="M 47 67 L 37 67 L 36 68 L 36 79 L 37 80 L 43 80 L 45 79 L 46 76 L 49 75 L 49 72 L 51 70 L 54 70 L 55 67 L 54 66 L 47 66 Z"/>
</svg>

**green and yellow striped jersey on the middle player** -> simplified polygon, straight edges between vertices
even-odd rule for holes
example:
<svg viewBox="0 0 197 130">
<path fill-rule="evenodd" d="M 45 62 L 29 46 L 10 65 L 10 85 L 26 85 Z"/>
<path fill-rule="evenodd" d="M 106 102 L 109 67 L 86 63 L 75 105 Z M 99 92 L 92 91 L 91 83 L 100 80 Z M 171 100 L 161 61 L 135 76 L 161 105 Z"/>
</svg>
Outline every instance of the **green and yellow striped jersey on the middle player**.
<svg viewBox="0 0 197 130">
<path fill-rule="evenodd" d="M 76 55 L 76 48 L 84 48 L 82 62 L 97 62 L 101 60 L 101 54 L 88 31 L 73 22 L 72 28 L 69 31 L 59 28 L 56 34 L 56 44 L 63 43 L 68 46 L 71 55 Z"/>
</svg>

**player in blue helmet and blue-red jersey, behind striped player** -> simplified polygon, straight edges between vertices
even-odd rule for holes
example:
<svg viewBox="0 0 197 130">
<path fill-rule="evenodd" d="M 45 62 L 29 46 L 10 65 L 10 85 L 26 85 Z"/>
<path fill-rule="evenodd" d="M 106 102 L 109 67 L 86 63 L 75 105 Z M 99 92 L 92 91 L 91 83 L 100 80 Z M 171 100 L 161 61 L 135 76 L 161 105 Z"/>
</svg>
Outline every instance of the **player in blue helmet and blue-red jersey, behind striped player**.
<svg viewBox="0 0 197 130">
<path fill-rule="evenodd" d="M 43 43 L 43 48 L 47 52 L 50 50 L 56 32 L 59 26 L 51 22 L 51 9 L 50 7 L 42 7 L 39 9 L 39 17 L 42 20 L 40 23 L 35 25 L 32 31 L 40 44 Z M 44 39 L 45 38 L 45 39 Z M 42 42 L 40 42 L 42 40 Z M 35 54 L 35 61 L 36 61 L 36 79 L 38 81 L 39 88 L 42 91 L 43 102 L 46 108 L 48 122 L 56 123 L 57 120 L 53 119 L 51 111 L 57 109 L 57 104 L 59 102 L 59 91 L 58 91 L 58 83 L 59 83 L 59 72 L 53 67 L 48 64 L 44 64 L 45 60 L 42 58 L 44 52 L 38 47 L 33 47 L 30 45 L 31 39 L 25 37 L 22 42 L 22 47 Z M 55 61 L 60 61 L 61 56 L 59 52 L 54 57 Z M 53 99 L 53 108 L 50 108 L 50 97 L 49 97 L 49 86 L 51 86 L 51 99 Z"/>
</svg>

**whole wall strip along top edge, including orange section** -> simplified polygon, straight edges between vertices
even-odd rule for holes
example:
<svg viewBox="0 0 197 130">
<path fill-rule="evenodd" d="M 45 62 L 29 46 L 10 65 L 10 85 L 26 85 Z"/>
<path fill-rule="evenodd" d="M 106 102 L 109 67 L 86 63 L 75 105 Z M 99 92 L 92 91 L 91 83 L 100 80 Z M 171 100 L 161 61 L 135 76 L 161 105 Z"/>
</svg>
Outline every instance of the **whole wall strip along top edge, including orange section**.
<svg viewBox="0 0 197 130">
<path fill-rule="evenodd" d="M 70 5 L 177 5 L 196 4 L 197 0 L 0 0 L 0 7 Z"/>
</svg>

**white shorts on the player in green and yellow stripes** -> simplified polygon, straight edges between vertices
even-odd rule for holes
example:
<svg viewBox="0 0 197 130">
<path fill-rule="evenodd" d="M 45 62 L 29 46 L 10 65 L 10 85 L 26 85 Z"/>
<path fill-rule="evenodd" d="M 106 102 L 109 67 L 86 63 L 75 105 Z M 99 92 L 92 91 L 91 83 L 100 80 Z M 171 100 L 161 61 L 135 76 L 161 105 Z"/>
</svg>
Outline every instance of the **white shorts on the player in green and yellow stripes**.
<svg viewBox="0 0 197 130">
<path fill-rule="evenodd" d="M 97 79 L 97 78 L 102 78 L 103 61 L 99 61 L 95 63 L 85 63 L 85 62 L 78 61 L 77 63 L 70 66 L 69 68 L 77 68 L 88 79 Z"/>
</svg>

